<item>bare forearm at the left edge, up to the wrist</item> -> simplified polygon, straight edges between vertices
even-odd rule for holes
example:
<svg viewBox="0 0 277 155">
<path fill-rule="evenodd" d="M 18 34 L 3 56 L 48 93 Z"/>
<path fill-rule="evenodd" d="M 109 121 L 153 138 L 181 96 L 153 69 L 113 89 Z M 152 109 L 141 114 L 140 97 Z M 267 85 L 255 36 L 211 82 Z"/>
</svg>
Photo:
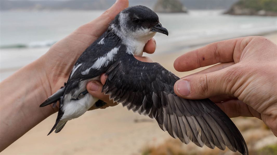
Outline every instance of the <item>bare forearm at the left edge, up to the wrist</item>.
<svg viewBox="0 0 277 155">
<path fill-rule="evenodd" d="M 39 107 L 51 95 L 42 66 L 32 62 L 1 82 L 0 151 L 57 110 Z"/>
</svg>

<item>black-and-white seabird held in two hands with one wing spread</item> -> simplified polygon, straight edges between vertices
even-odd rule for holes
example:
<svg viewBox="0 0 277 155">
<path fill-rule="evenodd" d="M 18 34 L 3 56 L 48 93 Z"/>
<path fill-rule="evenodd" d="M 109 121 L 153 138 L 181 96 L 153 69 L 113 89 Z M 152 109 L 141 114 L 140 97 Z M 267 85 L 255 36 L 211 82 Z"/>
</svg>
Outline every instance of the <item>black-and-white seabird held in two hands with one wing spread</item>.
<svg viewBox="0 0 277 155">
<path fill-rule="evenodd" d="M 141 62 L 145 44 L 156 33 L 168 36 L 158 15 L 145 6 L 122 10 L 109 23 L 107 30 L 76 61 L 61 89 L 40 107 L 59 101 L 60 107 L 53 128 L 60 132 L 66 122 L 83 115 L 94 105 L 105 104 L 91 96 L 86 85 L 106 74 L 102 92 L 128 110 L 156 119 L 159 127 L 183 143 L 206 145 L 248 154 L 242 134 L 231 119 L 211 100 L 189 100 L 174 93 L 180 78 L 159 63 Z M 48 134 L 48 135 L 49 135 Z"/>
</svg>

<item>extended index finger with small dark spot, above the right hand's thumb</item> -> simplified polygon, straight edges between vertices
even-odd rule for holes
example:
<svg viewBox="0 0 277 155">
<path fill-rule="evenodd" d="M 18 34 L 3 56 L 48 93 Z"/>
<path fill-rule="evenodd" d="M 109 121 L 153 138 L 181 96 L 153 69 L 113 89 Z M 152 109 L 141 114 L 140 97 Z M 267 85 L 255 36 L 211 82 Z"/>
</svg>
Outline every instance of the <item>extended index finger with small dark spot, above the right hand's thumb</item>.
<svg viewBox="0 0 277 155">
<path fill-rule="evenodd" d="M 184 72 L 219 62 L 238 60 L 250 40 L 251 37 L 244 37 L 211 43 L 179 56 L 174 62 L 174 68 Z"/>
</svg>

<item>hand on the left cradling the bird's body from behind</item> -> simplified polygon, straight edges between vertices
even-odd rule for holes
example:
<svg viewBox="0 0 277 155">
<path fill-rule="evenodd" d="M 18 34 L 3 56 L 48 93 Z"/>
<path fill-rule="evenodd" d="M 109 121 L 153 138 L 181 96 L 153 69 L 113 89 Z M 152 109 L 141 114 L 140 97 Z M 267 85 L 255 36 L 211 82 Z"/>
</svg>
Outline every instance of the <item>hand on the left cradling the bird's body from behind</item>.
<svg viewBox="0 0 277 155">
<path fill-rule="evenodd" d="M 67 81 L 79 56 L 91 43 L 106 31 L 109 23 L 120 11 L 128 7 L 128 3 L 129 2 L 126 0 L 116 1 L 116 3 L 101 16 L 80 26 L 69 36 L 55 43 L 45 55 L 37 60 L 42 64 L 41 66 L 43 66 L 43 70 L 45 70 L 45 74 L 41 77 L 47 78 L 47 80 L 42 80 L 42 86 L 44 87 L 45 94 L 48 94 L 48 97 L 63 86 L 63 83 Z M 155 48 L 155 40 L 152 38 L 145 45 L 144 51 L 147 53 L 153 53 Z M 142 61 L 151 61 L 150 58 L 146 57 L 136 58 L 141 59 Z M 96 83 L 100 84 L 99 82 Z M 100 88 L 101 87 L 102 86 L 100 85 Z M 107 101 L 108 97 L 104 96 L 100 91 L 94 91 L 91 94 L 107 103 L 112 103 Z M 55 110 L 57 111 L 57 108 L 55 108 Z"/>
</svg>

